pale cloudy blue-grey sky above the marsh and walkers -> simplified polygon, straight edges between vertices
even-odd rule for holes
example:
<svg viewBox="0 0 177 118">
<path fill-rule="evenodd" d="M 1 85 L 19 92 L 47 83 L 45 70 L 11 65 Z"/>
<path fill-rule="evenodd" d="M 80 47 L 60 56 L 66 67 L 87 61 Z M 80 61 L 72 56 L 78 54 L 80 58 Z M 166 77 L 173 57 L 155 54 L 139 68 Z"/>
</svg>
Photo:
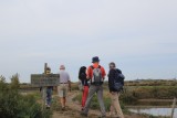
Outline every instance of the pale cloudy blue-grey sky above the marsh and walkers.
<svg viewBox="0 0 177 118">
<path fill-rule="evenodd" d="M 177 76 L 176 0 L 0 0 L 0 75 L 21 83 L 64 64 L 77 82 L 98 56 L 126 81 Z M 106 78 L 107 79 L 107 78 Z"/>
</svg>

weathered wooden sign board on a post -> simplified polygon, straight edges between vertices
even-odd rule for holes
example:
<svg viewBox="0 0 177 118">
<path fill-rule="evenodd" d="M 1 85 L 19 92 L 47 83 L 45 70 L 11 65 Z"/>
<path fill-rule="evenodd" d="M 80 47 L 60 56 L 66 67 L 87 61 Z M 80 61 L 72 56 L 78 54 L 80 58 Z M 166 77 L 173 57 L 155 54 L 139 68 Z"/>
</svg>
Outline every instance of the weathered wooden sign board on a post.
<svg viewBox="0 0 177 118">
<path fill-rule="evenodd" d="M 60 74 L 31 74 L 31 84 L 34 87 L 58 86 Z"/>
</svg>

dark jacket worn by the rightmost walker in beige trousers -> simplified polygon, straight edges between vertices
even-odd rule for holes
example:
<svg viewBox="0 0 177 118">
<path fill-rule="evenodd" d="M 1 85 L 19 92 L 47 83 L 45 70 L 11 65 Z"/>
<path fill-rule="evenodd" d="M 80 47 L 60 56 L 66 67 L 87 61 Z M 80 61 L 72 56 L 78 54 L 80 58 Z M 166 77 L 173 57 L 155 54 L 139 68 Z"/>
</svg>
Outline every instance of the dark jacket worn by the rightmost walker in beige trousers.
<svg viewBox="0 0 177 118">
<path fill-rule="evenodd" d="M 108 88 L 110 92 L 117 92 L 113 88 L 114 86 L 114 81 L 122 83 L 124 85 L 124 79 L 117 79 L 116 73 L 122 74 L 122 71 L 116 68 L 116 69 L 110 69 L 108 72 Z"/>
</svg>

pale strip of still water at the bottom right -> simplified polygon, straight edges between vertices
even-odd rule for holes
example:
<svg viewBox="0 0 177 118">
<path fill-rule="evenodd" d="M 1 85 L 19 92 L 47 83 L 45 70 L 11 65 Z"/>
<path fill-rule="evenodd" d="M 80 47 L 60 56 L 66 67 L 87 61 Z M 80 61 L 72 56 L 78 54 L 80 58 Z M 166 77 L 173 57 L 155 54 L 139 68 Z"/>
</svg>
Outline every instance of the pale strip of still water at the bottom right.
<svg viewBox="0 0 177 118">
<path fill-rule="evenodd" d="M 148 114 L 153 116 L 170 116 L 171 108 L 129 108 L 129 111 L 136 114 Z M 177 108 L 175 109 L 174 118 L 177 118 Z"/>
</svg>

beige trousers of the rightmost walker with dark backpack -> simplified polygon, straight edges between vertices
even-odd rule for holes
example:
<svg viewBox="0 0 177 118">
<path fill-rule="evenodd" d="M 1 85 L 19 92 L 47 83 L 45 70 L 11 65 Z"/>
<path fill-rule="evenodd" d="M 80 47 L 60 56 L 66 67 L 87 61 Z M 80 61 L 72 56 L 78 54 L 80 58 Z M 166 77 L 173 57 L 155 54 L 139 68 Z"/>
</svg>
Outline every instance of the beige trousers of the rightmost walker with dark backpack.
<svg viewBox="0 0 177 118">
<path fill-rule="evenodd" d="M 111 99 L 112 99 L 112 110 L 111 115 L 113 115 L 114 110 L 116 111 L 116 117 L 124 118 L 123 111 L 121 109 L 119 100 L 118 100 L 119 94 L 118 93 L 111 93 Z"/>
</svg>

